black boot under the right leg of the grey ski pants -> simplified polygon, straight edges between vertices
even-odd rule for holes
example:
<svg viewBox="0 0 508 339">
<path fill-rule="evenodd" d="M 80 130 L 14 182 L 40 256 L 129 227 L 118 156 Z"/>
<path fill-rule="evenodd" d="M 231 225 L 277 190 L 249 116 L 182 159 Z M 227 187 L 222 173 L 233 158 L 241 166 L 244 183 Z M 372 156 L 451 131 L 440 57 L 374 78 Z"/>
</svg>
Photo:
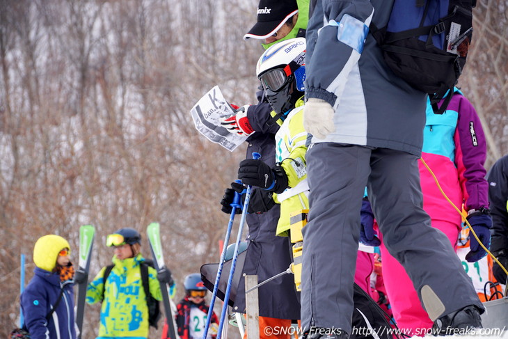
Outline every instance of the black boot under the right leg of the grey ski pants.
<svg viewBox="0 0 508 339">
<path fill-rule="evenodd" d="M 438 318 L 432 326 L 434 336 L 450 336 L 458 334 L 454 329 L 482 329 L 482 319 L 479 316 L 479 309 L 474 306 L 466 306 L 443 317 Z"/>
</svg>

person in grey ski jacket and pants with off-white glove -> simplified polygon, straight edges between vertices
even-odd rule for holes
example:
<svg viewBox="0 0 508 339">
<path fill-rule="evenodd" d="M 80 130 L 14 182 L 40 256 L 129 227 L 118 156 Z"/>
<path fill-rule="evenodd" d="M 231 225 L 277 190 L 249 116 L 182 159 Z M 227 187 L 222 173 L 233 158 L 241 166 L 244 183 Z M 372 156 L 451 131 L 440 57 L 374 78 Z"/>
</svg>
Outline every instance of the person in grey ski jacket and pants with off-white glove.
<svg viewBox="0 0 508 339">
<path fill-rule="evenodd" d="M 313 137 L 301 293 L 308 338 L 351 334 L 365 187 L 386 248 L 406 269 L 436 331 L 482 326 L 484 308 L 470 278 L 422 209 L 417 161 L 427 95 L 388 69 L 367 33 L 371 22 L 386 26 L 392 3 L 311 3 L 304 125 Z"/>
</svg>

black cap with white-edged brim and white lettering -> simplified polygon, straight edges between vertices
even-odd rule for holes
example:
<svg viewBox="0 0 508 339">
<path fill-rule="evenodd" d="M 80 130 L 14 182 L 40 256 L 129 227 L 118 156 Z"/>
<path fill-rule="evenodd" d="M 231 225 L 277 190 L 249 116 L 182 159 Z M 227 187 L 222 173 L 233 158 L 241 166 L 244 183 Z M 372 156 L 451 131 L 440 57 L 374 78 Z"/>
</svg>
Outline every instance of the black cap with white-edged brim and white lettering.
<svg viewBox="0 0 508 339">
<path fill-rule="evenodd" d="M 244 39 L 266 39 L 273 36 L 283 24 L 298 13 L 296 0 L 260 0 L 257 6 L 257 22 Z"/>
</svg>

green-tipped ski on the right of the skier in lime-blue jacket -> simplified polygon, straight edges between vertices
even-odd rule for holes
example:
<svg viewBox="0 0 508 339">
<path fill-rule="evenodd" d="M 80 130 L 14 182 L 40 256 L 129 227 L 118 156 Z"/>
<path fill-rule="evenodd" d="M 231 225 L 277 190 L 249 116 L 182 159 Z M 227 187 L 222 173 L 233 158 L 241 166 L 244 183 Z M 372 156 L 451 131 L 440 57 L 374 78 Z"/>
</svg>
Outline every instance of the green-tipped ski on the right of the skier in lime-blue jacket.
<svg viewBox="0 0 508 339">
<path fill-rule="evenodd" d="M 157 272 L 166 270 L 164 265 L 164 255 L 162 254 L 161 234 L 159 223 L 150 223 L 146 230 L 148 235 L 148 243 L 150 244 L 150 251 L 152 251 L 152 258 L 154 261 L 155 269 Z M 161 283 L 162 301 L 164 303 L 164 313 L 166 314 L 166 324 L 168 324 L 168 338 L 178 339 L 175 331 L 175 318 L 171 312 L 171 301 L 168 292 L 168 284 Z M 167 339 L 167 338 L 163 338 Z"/>
</svg>

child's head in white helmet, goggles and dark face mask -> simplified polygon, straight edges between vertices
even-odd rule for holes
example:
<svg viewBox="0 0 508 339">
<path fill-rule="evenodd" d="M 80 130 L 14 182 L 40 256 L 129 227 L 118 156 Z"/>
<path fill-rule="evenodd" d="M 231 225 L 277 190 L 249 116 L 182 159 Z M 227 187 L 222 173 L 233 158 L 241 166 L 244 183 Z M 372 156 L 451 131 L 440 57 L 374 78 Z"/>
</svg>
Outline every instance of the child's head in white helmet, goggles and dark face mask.
<svg viewBox="0 0 508 339">
<path fill-rule="evenodd" d="M 284 40 L 269 47 L 257 61 L 257 79 L 276 113 L 293 109 L 303 95 L 306 46 L 305 38 Z"/>
</svg>

